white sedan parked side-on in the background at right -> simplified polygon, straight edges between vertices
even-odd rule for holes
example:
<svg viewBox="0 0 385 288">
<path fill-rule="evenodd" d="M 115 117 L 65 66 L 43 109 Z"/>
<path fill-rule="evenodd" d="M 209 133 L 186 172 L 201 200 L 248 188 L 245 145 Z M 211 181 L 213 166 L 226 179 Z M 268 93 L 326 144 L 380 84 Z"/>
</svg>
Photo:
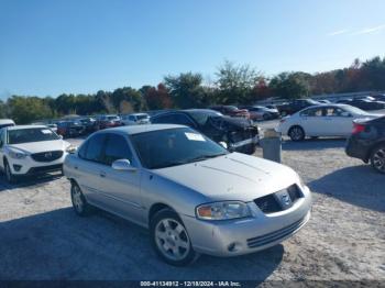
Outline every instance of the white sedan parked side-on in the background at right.
<svg viewBox="0 0 385 288">
<path fill-rule="evenodd" d="M 356 119 L 373 119 L 371 114 L 348 104 L 320 104 L 306 108 L 280 120 L 277 131 L 293 141 L 302 141 L 306 136 L 348 137 L 353 131 Z"/>
</svg>

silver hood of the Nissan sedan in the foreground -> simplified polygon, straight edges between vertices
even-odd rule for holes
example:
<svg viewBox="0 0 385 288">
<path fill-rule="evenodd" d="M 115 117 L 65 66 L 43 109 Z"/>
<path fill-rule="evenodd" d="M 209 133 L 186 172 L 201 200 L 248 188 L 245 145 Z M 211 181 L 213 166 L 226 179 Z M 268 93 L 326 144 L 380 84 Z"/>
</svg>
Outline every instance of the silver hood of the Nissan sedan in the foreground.
<svg viewBox="0 0 385 288">
<path fill-rule="evenodd" d="M 294 182 L 299 185 L 299 177 L 292 168 L 240 153 L 154 173 L 204 195 L 208 201 L 248 202 Z"/>
</svg>

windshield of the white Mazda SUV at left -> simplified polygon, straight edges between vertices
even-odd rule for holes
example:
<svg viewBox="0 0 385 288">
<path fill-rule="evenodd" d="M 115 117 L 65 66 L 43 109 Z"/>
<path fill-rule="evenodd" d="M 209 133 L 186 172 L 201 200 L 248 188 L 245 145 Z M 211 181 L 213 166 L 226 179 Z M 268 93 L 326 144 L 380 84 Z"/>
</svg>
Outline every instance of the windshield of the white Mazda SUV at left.
<svg viewBox="0 0 385 288">
<path fill-rule="evenodd" d="M 21 144 L 41 141 L 59 140 L 48 128 L 29 128 L 8 131 L 8 144 Z"/>
</svg>

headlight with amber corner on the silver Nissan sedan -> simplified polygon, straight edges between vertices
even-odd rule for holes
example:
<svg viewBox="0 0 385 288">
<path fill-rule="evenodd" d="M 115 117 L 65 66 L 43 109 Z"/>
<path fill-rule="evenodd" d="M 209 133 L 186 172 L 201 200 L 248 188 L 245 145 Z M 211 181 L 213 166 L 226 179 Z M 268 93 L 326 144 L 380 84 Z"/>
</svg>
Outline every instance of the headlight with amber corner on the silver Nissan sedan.
<svg viewBox="0 0 385 288">
<path fill-rule="evenodd" d="M 198 206 L 197 218 L 204 220 L 229 220 L 251 215 L 246 203 L 240 201 L 224 201 Z"/>
</svg>

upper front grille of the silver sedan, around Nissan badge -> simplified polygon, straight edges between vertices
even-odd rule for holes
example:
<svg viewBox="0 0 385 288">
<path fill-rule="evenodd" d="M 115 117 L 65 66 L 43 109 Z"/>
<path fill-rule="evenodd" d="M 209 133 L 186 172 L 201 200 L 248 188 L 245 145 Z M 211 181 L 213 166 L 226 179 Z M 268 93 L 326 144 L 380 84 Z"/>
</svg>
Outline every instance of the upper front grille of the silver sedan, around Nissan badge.
<svg viewBox="0 0 385 288">
<path fill-rule="evenodd" d="M 254 199 L 254 203 L 260 208 L 265 214 L 284 211 L 290 208 L 299 198 L 304 197 L 302 192 L 299 190 L 297 185 L 292 185 L 286 189 L 288 196 L 290 197 L 292 203 L 289 206 L 279 202 L 279 197 L 277 193 L 266 195 L 264 197 Z"/>
</svg>

